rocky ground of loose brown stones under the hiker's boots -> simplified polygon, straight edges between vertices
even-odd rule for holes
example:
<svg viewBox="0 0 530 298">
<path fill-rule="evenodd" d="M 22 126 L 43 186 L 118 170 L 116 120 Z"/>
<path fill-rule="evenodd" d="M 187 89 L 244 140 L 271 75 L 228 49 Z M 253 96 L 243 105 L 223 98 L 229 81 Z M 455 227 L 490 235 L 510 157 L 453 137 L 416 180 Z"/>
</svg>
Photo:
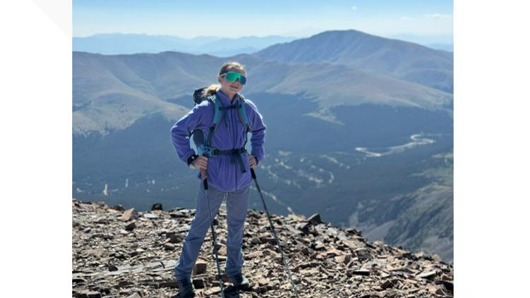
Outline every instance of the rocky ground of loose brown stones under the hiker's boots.
<svg viewBox="0 0 530 298">
<path fill-rule="evenodd" d="M 153 205 L 137 212 L 76 199 L 72 209 L 72 297 L 178 297 L 172 270 L 194 210 Z M 453 296 L 453 266 L 437 255 L 367 242 L 359 231 L 333 227 L 319 215 L 271 216 L 298 297 Z M 224 268 L 225 210 L 214 224 Z M 220 297 L 212 247 L 208 230 L 194 268 L 196 297 Z M 266 213 L 249 210 L 243 251 L 251 285 L 239 297 L 295 297 Z"/>
</svg>

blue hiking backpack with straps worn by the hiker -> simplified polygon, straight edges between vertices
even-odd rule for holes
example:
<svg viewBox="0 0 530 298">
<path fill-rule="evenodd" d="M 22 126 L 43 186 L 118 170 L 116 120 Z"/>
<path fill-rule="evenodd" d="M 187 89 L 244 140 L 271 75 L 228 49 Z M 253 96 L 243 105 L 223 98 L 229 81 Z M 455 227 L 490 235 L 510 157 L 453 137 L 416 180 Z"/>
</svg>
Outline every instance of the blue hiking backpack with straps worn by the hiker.
<svg viewBox="0 0 530 298">
<path fill-rule="evenodd" d="M 248 141 L 247 133 L 250 131 L 250 125 L 247 118 L 245 97 L 243 97 L 243 95 L 239 95 L 238 100 L 235 104 L 230 105 L 229 107 L 223 107 L 223 104 L 217 94 L 213 94 L 206 97 L 202 96 L 202 92 L 205 88 L 206 87 L 195 90 L 193 93 L 193 100 L 195 102 L 195 105 L 199 105 L 204 100 L 210 101 L 210 104 L 213 107 L 213 121 L 210 126 L 210 133 L 208 133 L 208 138 L 206 138 L 206 140 L 204 140 L 204 134 L 201 129 L 195 129 L 194 131 L 192 131 L 193 141 L 198 151 L 197 154 L 206 155 L 208 157 L 217 155 L 230 155 L 231 164 L 235 163 L 235 157 L 239 157 L 238 161 L 241 170 L 245 173 L 247 171 L 245 169 L 245 165 L 243 164 L 241 154 L 247 152 L 245 145 L 247 145 Z M 237 109 L 237 117 L 240 119 L 240 122 L 243 124 L 243 126 L 245 126 L 245 144 L 241 148 L 219 150 L 211 146 L 211 138 L 213 136 L 213 133 L 217 131 L 220 122 L 225 119 L 227 109 Z"/>
</svg>

